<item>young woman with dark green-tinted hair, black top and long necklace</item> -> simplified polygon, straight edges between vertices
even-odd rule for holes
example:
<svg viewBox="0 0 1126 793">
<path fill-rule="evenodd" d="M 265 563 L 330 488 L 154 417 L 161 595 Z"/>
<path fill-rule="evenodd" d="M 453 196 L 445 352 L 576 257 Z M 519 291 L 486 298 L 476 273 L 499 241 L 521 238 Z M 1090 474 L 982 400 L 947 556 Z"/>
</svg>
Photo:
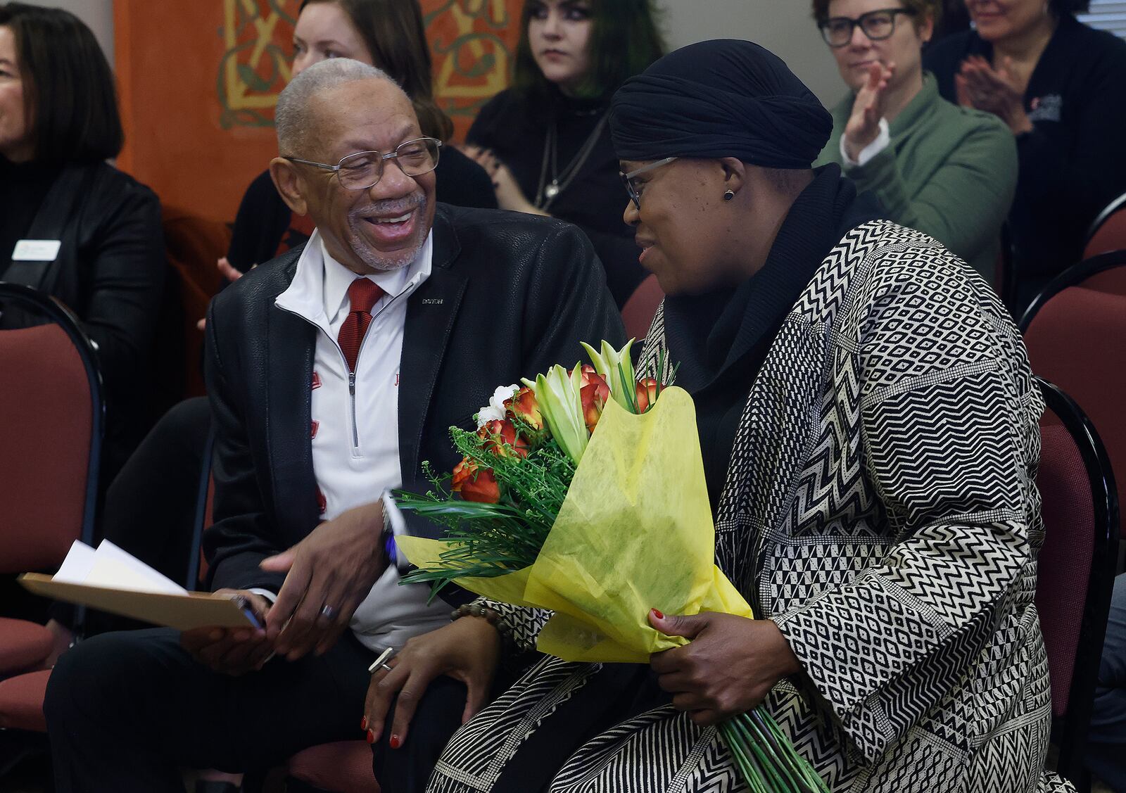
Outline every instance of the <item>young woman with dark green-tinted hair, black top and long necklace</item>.
<svg viewBox="0 0 1126 793">
<path fill-rule="evenodd" d="M 466 137 L 502 210 L 581 228 L 620 306 L 645 277 L 610 144 L 610 96 L 661 56 L 651 0 L 527 0 L 512 87 L 481 108 Z"/>
</svg>

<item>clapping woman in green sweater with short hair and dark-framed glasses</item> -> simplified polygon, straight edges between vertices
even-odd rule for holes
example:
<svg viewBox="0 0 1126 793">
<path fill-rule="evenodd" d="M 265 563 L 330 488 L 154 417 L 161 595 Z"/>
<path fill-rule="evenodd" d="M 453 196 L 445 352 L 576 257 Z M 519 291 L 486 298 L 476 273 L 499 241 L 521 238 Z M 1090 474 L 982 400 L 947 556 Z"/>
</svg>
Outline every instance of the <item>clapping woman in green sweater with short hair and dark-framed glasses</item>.
<svg viewBox="0 0 1126 793">
<path fill-rule="evenodd" d="M 813 0 L 851 89 L 817 164 L 839 163 L 888 220 L 930 234 L 993 283 L 1017 148 L 997 117 L 946 101 L 923 71 L 940 14 L 939 0 Z"/>
</svg>

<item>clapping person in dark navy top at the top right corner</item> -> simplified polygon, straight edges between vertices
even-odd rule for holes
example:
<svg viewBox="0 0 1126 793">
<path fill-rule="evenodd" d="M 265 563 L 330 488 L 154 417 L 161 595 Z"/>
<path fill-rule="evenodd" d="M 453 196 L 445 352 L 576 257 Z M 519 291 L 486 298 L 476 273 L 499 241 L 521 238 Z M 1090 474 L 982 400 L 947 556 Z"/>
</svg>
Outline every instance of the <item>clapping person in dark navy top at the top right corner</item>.
<svg viewBox="0 0 1126 793">
<path fill-rule="evenodd" d="M 997 114 L 1017 139 L 1009 215 L 1019 312 L 1082 258 L 1126 191 L 1126 42 L 1075 19 L 1087 0 L 966 0 L 976 26 L 927 53 L 941 95 Z"/>
</svg>

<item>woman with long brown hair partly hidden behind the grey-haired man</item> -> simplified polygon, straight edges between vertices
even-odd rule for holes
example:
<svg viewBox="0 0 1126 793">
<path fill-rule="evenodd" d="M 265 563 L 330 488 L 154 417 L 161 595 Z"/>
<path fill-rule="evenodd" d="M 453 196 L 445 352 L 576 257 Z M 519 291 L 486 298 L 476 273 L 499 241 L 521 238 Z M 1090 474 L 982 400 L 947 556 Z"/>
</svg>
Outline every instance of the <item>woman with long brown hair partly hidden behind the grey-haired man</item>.
<svg viewBox="0 0 1126 793">
<path fill-rule="evenodd" d="M 303 0 L 293 36 L 293 74 L 329 57 L 350 57 L 382 69 L 414 105 L 422 133 L 446 142 L 454 123 L 434 99 L 430 51 L 418 0 Z M 438 201 L 495 207 L 488 175 L 448 143 L 436 169 Z M 268 171 L 247 189 L 234 234 L 220 269 L 238 277 L 309 239 L 305 219 L 294 217 Z M 227 262 L 230 266 L 227 266 Z"/>
</svg>

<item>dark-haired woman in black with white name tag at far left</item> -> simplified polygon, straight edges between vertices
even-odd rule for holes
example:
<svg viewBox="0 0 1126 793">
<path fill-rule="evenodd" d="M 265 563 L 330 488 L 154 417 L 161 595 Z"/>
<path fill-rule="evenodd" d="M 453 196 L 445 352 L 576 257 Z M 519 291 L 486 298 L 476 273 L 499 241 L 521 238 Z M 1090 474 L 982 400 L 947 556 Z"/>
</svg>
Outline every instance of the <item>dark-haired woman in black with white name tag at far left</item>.
<svg viewBox="0 0 1126 793">
<path fill-rule="evenodd" d="M 105 482 L 146 429 L 167 267 L 160 202 L 105 162 L 122 143 L 114 77 L 90 29 L 60 9 L 0 5 L 0 280 L 57 297 L 98 346 Z"/>
</svg>

